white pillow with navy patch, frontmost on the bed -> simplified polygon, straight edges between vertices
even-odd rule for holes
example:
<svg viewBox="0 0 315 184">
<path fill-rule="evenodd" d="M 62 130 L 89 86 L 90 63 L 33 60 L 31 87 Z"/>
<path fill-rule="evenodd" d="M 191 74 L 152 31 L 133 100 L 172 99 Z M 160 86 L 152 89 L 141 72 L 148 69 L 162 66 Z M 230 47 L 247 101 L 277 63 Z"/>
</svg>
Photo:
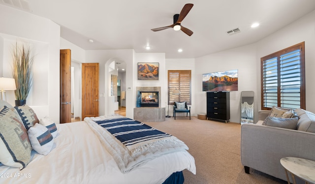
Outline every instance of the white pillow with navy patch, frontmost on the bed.
<svg viewBox="0 0 315 184">
<path fill-rule="evenodd" d="M 32 148 L 39 154 L 47 155 L 54 145 L 54 138 L 48 128 L 36 123 L 28 132 Z"/>
</svg>

